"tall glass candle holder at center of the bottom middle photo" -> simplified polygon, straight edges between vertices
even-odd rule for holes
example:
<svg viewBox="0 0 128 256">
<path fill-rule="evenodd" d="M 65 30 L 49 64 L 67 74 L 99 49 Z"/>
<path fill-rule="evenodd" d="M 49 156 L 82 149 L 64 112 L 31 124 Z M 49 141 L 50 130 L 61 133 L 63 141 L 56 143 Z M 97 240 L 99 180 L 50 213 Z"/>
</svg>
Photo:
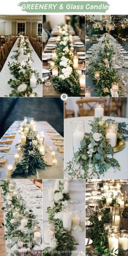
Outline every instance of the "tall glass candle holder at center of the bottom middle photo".
<svg viewBox="0 0 128 256">
<path fill-rule="evenodd" d="M 73 207 L 72 205 L 62 206 L 62 221 L 63 229 L 66 231 L 71 231 L 72 228 L 72 216 L 73 216 Z"/>
</svg>

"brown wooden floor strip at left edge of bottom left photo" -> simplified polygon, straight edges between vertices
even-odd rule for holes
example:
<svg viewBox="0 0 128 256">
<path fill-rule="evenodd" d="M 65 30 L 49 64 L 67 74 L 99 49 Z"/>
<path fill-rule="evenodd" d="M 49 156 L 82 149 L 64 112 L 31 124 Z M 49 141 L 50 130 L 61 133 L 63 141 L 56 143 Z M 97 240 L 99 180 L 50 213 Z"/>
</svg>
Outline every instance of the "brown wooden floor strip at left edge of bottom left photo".
<svg viewBox="0 0 128 256">
<path fill-rule="evenodd" d="M 1 188 L 0 188 L 0 226 L 2 226 L 3 219 L 3 211 L 2 208 L 2 197 L 1 197 Z M 0 255 L 5 256 L 5 241 L 3 240 L 4 236 L 4 228 L 0 228 Z"/>
</svg>

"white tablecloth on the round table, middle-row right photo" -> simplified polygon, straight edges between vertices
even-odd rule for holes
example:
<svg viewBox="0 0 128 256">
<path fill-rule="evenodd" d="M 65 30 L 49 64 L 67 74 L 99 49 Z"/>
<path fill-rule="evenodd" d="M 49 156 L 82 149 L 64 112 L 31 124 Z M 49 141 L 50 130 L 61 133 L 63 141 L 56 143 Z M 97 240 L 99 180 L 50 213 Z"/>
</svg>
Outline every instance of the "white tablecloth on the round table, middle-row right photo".
<svg viewBox="0 0 128 256">
<path fill-rule="evenodd" d="M 110 117 L 104 117 L 104 119 L 108 119 Z M 73 146 L 72 146 L 72 128 L 71 121 L 73 120 L 84 120 L 85 123 L 85 132 L 91 132 L 91 126 L 89 126 L 89 120 L 92 120 L 93 117 L 77 117 L 77 118 L 67 118 L 65 119 L 65 168 L 67 163 L 73 158 Z M 114 118 L 111 119 L 116 120 L 118 122 L 126 122 L 128 123 L 127 118 Z M 125 142 L 125 148 L 119 152 L 114 153 L 114 158 L 116 158 L 121 166 L 121 170 L 114 170 L 111 168 L 104 175 L 100 175 L 100 178 L 116 178 L 116 179 L 127 179 L 127 166 L 128 166 L 128 142 Z M 91 172 L 90 172 L 91 173 Z M 93 176 L 93 178 L 97 178 Z"/>
</svg>

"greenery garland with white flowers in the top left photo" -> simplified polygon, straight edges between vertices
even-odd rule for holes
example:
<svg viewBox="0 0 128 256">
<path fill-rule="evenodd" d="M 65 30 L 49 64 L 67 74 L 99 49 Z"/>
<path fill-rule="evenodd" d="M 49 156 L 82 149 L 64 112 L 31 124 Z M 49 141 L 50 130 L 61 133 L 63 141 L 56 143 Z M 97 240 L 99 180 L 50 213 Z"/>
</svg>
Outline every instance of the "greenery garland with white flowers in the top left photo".
<svg viewBox="0 0 128 256">
<path fill-rule="evenodd" d="M 22 42 L 22 39 L 24 41 Z M 20 38 L 17 43 L 17 47 L 23 47 L 24 55 L 29 53 L 28 63 L 22 62 L 12 62 L 8 64 L 10 73 L 14 76 L 14 79 L 10 79 L 8 84 L 12 88 L 10 97 L 30 97 L 31 93 L 33 93 L 33 88 L 30 87 L 30 75 L 35 74 L 37 78 L 37 84 L 42 84 L 42 80 L 39 78 L 39 73 L 36 70 L 31 69 L 30 62 L 34 61 L 31 57 L 31 50 L 29 47 L 29 43 L 26 41 L 26 37 L 20 35 Z M 12 55 L 11 58 L 18 60 L 20 56 L 20 50 L 15 51 L 16 54 Z M 37 97 L 37 93 L 34 93 L 35 97 Z"/>
</svg>

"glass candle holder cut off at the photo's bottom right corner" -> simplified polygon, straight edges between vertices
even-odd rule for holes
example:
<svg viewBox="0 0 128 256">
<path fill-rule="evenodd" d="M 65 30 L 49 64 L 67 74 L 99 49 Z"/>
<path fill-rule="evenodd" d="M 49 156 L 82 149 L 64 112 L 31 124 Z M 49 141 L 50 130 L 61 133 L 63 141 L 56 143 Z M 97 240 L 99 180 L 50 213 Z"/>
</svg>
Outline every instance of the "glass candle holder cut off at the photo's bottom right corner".
<svg viewBox="0 0 128 256">
<path fill-rule="evenodd" d="M 119 235 L 119 246 L 124 250 L 127 251 L 128 249 L 128 231 L 121 230 Z"/>
</svg>

